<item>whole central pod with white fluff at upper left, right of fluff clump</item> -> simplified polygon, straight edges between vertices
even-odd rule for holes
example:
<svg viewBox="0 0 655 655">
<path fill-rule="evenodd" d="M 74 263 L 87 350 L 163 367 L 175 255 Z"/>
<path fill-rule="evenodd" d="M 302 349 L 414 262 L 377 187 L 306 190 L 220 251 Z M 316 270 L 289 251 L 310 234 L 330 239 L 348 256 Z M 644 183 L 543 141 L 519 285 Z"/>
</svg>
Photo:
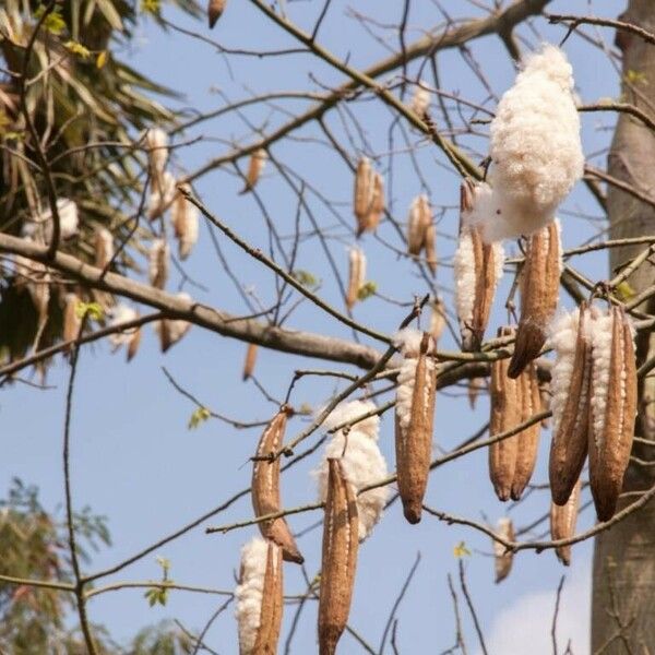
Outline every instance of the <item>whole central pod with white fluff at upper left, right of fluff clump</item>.
<svg viewBox="0 0 655 655">
<path fill-rule="evenodd" d="M 396 334 L 394 343 L 404 357 L 395 408 L 398 491 L 405 519 L 418 523 L 432 453 L 437 367 L 430 355 L 434 353 L 434 342 L 427 332 L 405 329 Z"/>
</svg>

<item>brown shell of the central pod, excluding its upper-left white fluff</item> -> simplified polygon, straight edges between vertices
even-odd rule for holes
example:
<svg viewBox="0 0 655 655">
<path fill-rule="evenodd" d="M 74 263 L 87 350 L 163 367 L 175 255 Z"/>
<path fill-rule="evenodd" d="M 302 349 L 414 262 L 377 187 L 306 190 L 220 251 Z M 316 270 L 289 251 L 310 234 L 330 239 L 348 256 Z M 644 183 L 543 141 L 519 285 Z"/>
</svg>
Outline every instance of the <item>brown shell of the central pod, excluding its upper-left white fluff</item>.
<svg viewBox="0 0 655 655">
<path fill-rule="evenodd" d="M 416 369 L 412 391 L 412 409 L 406 428 L 395 415 L 395 454 L 398 492 L 403 513 L 412 524 L 421 517 L 422 501 L 430 474 L 432 454 L 432 428 L 434 422 L 434 397 L 437 392 L 437 367 L 431 359 L 433 340 L 422 334 L 416 354 Z"/>
</svg>

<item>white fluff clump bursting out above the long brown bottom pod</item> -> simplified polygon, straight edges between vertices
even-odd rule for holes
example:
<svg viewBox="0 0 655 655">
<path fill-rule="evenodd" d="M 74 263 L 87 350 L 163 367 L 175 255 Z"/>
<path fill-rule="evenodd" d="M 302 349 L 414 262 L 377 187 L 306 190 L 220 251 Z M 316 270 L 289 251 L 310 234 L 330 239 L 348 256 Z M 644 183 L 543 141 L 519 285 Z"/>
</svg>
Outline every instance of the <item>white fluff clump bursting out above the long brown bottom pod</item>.
<svg viewBox="0 0 655 655">
<path fill-rule="evenodd" d="M 370 401 L 353 401 L 336 407 L 323 422 L 323 427 L 332 429 L 357 416 L 374 409 Z M 341 458 L 346 479 L 359 491 L 368 485 L 386 477 L 386 462 L 378 446 L 380 418 L 373 416 L 355 424 L 348 434 L 344 430 L 336 432 L 327 442 L 319 468 L 312 472 L 319 487 L 319 499 L 325 500 L 327 493 L 327 458 Z M 366 539 L 382 516 L 382 510 L 389 490 L 378 487 L 357 497 L 359 513 L 359 540 Z"/>
</svg>

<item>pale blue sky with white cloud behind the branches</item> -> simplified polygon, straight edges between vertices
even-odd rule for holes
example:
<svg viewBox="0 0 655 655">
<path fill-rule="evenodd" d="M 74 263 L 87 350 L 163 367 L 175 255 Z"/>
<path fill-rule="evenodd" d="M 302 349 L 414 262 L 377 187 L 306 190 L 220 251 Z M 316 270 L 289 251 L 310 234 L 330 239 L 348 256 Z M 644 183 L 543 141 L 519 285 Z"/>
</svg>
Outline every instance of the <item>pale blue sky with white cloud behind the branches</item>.
<svg viewBox="0 0 655 655">
<path fill-rule="evenodd" d="M 308 26 L 321 4 L 290 2 L 289 16 Z M 479 10 L 469 3 L 448 0 L 442 4 L 453 16 L 479 14 Z M 622 9 L 623 3 L 616 0 L 604 3 L 553 1 L 549 5 L 552 13 L 597 12 L 608 16 L 617 15 Z M 340 57 L 349 58 L 350 64 L 366 67 L 384 56 L 385 49 L 366 35 L 361 25 L 353 19 L 352 11 L 374 15 L 381 24 L 397 23 L 402 3 L 340 0 L 331 4 L 329 19 L 320 33 L 321 43 Z M 275 49 L 295 45 L 248 2 L 231 0 L 212 33 L 204 23 L 180 16 L 170 8 L 165 9 L 165 15 L 226 47 Z M 431 26 L 439 21 L 436 3 L 414 2 L 407 40 L 414 40 L 422 34 L 426 25 Z M 544 21 L 536 22 L 535 26 L 546 39 L 553 43 L 558 43 L 564 33 L 561 27 L 549 27 Z M 611 44 L 614 35 L 609 31 L 598 34 L 608 45 Z M 522 29 L 522 35 L 529 45 L 538 43 L 538 38 L 526 28 Z M 397 36 L 394 33 L 386 36 L 389 45 L 396 48 Z M 492 88 L 500 95 L 511 84 L 514 74 L 502 45 L 497 38 L 487 37 L 472 43 L 471 48 L 484 66 Z M 577 92 L 584 102 L 618 96 L 618 76 L 606 57 L 576 36 L 567 41 L 565 50 L 574 67 Z M 319 84 L 332 86 L 343 80 L 340 73 L 310 55 L 264 59 L 235 57 L 230 58 L 228 68 L 225 59 L 211 46 L 176 32 L 162 33 L 147 20 L 140 24 L 131 50 L 123 56 L 129 57 L 131 63 L 140 70 L 182 92 L 184 98 L 180 106 L 193 107 L 200 111 L 222 106 L 224 100 L 216 93 L 218 88 L 234 100 L 251 92 L 321 91 Z M 456 52 L 444 52 L 439 56 L 438 61 L 443 90 L 460 92 L 476 103 L 487 100 L 488 93 Z M 409 73 L 415 75 L 416 70 L 416 66 L 412 66 Z M 279 100 L 276 106 L 298 111 L 307 106 L 307 102 Z M 492 109 L 493 106 L 495 102 L 491 100 L 489 107 Z M 358 117 L 362 133 L 350 130 L 350 141 L 342 122 L 344 120 L 347 123 L 348 116 L 340 116 L 334 110 L 327 116 L 327 124 L 343 140 L 353 160 L 364 152 L 379 155 L 379 169 L 386 171 L 388 130 L 392 119 L 389 110 L 370 98 L 350 104 L 349 108 Z M 252 107 L 246 111 L 246 116 L 265 133 L 286 118 L 281 110 L 272 110 L 270 107 Z M 584 114 L 582 121 L 585 153 L 594 164 L 602 165 L 602 157 L 591 155 L 607 145 L 614 117 Z M 419 141 L 416 133 L 405 129 L 413 143 Z M 486 127 L 481 126 L 480 130 L 486 132 Z M 177 151 L 172 163 L 174 171 L 181 174 L 193 170 L 206 159 L 226 152 L 229 145 L 225 140 L 250 142 L 250 128 L 234 114 L 201 123 L 179 138 L 180 141 L 198 135 L 204 139 Z M 354 237 L 349 229 L 338 223 L 336 216 L 345 225 L 353 224 L 352 174 L 340 157 L 324 145 L 310 140 L 321 136 L 315 126 L 302 129 L 295 136 L 302 139 L 276 144 L 272 154 L 295 172 L 306 176 L 309 183 L 330 200 L 331 209 L 308 191 L 308 203 L 315 213 L 318 223 L 327 229 L 331 252 L 345 275 L 347 247 L 354 242 Z M 402 145 L 402 139 L 396 131 L 395 146 L 398 147 L 398 144 Z M 481 140 L 477 140 L 476 145 L 484 151 Z M 441 154 L 433 146 L 421 144 L 417 160 L 428 181 L 432 202 L 454 207 L 458 196 L 458 180 L 450 169 L 444 168 Z M 240 166 L 243 169 L 245 162 Z M 215 170 L 200 180 L 196 192 L 216 215 L 250 243 L 266 248 L 266 228 L 261 212 L 251 195 L 238 195 L 240 187 L 241 182 L 234 175 L 234 169 Z M 392 207 L 400 219 L 404 221 L 409 202 L 421 190 L 409 158 L 406 154 L 397 154 Z M 297 199 L 272 165 L 267 166 L 259 191 L 281 235 L 293 235 Z M 582 184 L 572 193 L 564 209 L 598 215 L 597 206 Z M 577 245 L 603 227 L 602 224 L 590 223 L 569 214 L 562 214 L 562 224 L 565 246 Z M 301 213 L 301 225 L 305 229 L 310 228 L 305 212 Z M 438 251 L 446 265 L 439 270 L 438 284 L 444 289 L 444 298 L 450 307 L 452 270 L 448 262 L 452 257 L 452 236 L 456 228 L 456 212 L 445 211 L 439 223 L 439 229 L 443 234 L 438 242 Z M 398 246 L 391 226 L 383 224 L 380 236 Z M 235 273 L 266 306 L 274 298 L 275 287 L 271 273 L 258 262 L 245 259 L 233 245 L 223 239 L 221 242 Z M 425 293 L 425 283 L 415 275 L 406 260 L 398 260 L 394 252 L 370 235 L 362 239 L 362 247 L 369 261 L 368 277 L 377 283 L 380 293 L 405 302 L 410 301 L 414 294 Z M 607 276 L 604 253 L 585 255 L 574 264 L 590 277 Z M 297 267 L 310 271 L 322 279 L 320 295 L 337 307 L 343 306 L 330 266 L 315 239 L 302 242 Z M 201 226 L 200 242 L 184 264 L 184 270 L 207 289 L 187 285 L 184 290 L 194 298 L 234 313 L 248 313 L 216 260 L 206 225 Z M 179 277 L 174 275 L 168 288 L 177 290 L 178 281 Z M 507 320 L 501 308 L 509 285 L 510 276 L 505 275 L 497 297 L 489 334 Z M 355 308 L 358 321 L 386 333 L 394 330 L 405 313 L 406 310 L 378 298 L 369 299 Z M 345 327 L 335 324 L 307 302 L 289 319 L 288 327 L 349 337 Z M 94 512 L 107 515 L 114 537 L 114 546 L 102 549 L 94 557 L 88 571 L 110 567 L 130 557 L 249 486 L 251 471 L 248 457 L 253 452 L 259 431 L 239 431 L 215 420 L 203 424 L 196 430 L 188 430 L 187 422 L 194 407 L 168 383 L 162 371 L 163 366 L 180 384 L 215 412 L 245 421 L 266 420 L 275 412 L 275 405 L 266 401 L 251 382 L 243 383 L 240 380 L 246 352 L 243 344 L 193 327 L 179 345 L 162 355 L 152 327 L 147 326 L 145 333 L 141 350 L 130 365 L 126 365 L 122 354 L 111 355 L 107 343 L 86 348 L 81 356 L 72 421 L 74 503 L 78 508 L 88 504 Z M 453 344 L 450 337 L 445 337 L 442 345 L 450 348 Z M 297 368 L 338 367 L 260 350 L 257 376 L 263 386 L 279 398 L 284 396 L 293 371 Z M 348 367 L 344 368 L 348 370 Z M 55 389 L 35 391 L 16 384 L 3 388 L 0 395 L 0 434 L 4 453 L 0 464 L 0 489 L 7 489 L 11 478 L 19 476 L 25 483 L 38 485 L 43 502 L 51 509 L 60 507 L 63 500 L 61 441 L 67 379 L 67 366 L 63 360 L 58 359 L 48 376 L 48 382 Z M 293 403 L 297 407 L 307 403 L 315 408 L 340 389 L 343 389 L 343 384 L 338 380 L 303 379 L 296 386 Z M 451 449 L 475 432 L 487 420 L 487 414 L 486 397 L 480 397 L 476 412 L 471 412 L 463 394 L 457 393 L 453 397 L 451 393 L 440 393 L 437 400 L 436 448 Z M 392 418 L 391 414 L 383 418 L 380 439 L 381 449 L 390 462 L 393 462 Z M 297 434 L 305 427 L 306 420 L 293 419 L 288 436 Z M 310 443 L 318 437 L 319 434 L 314 434 Z M 549 434 L 544 432 L 538 468 L 534 476 L 534 480 L 538 483 L 547 479 L 548 443 Z M 283 495 L 287 507 L 314 500 L 315 490 L 309 472 L 317 463 L 318 458 L 314 456 L 284 476 Z M 477 520 L 487 516 L 492 522 L 508 511 L 508 507 L 503 507 L 493 496 L 487 474 L 487 454 L 484 451 L 436 472 L 430 479 L 427 502 L 453 514 Z M 511 515 L 517 525 L 525 525 L 547 508 L 547 495 L 535 492 L 521 508 L 512 511 Z M 255 529 L 249 527 L 226 535 L 207 536 L 204 527 L 209 524 L 245 520 L 251 514 L 250 500 L 242 499 L 228 511 L 157 549 L 117 575 L 105 579 L 103 583 L 156 579 L 159 568 L 155 557 L 162 556 L 171 561 L 171 577 L 176 582 L 231 590 L 235 584 L 234 574 L 238 569 L 239 548 L 255 534 Z M 320 514 L 317 513 L 298 515 L 290 519 L 290 524 L 294 529 L 301 529 L 319 517 Z M 581 526 L 590 526 L 592 522 L 593 516 L 586 512 Z M 299 540 L 310 576 L 313 576 L 320 564 L 320 531 L 313 531 Z M 555 588 L 563 572 L 551 552 L 540 556 L 522 552 L 515 559 L 510 577 L 496 586 L 492 560 L 488 557 L 491 548 L 486 537 L 467 528 L 445 526 L 428 517 L 418 526 L 409 526 L 396 505 L 389 510 L 373 536 L 360 549 L 350 615 L 353 627 L 378 647 L 390 608 L 417 552 L 420 552 L 421 562 L 417 575 L 397 614 L 400 650 L 428 653 L 452 645 L 454 623 L 446 575 L 456 572 L 453 547 L 462 540 L 473 551 L 466 559 L 466 571 L 483 628 L 490 639 L 496 640 L 492 643 L 502 644 L 502 640 L 505 640 L 504 643 L 514 644 L 513 651 L 499 645 L 499 650 L 491 652 L 524 652 L 520 647 L 522 635 L 516 631 L 514 618 L 521 616 L 525 619 L 524 615 L 528 611 L 526 607 L 532 611 L 529 618 L 525 619 L 532 621 L 533 626 L 532 652 L 550 652 L 551 605 L 548 605 L 547 599 L 555 599 Z M 568 631 L 568 636 L 573 636 L 576 654 L 584 654 L 588 648 L 584 640 L 588 624 L 587 582 L 591 553 L 591 544 L 577 546 L 573 551 L 573 565 L 567 571 L 565 588 L 570 587 L 567 592 L 570 594 L 567 597 L 570 611 L 563 618 L 562 639 L 564 631 Z M 287 565 L 285 574 L 287 593 L 302 593 L 305 586 L 298 570 Z M 90 614 L 93 621 L 105 623 L 117 639 L 127 640 L 140 627 L 167 617 L 180 618 L 187 627 L 198 630 L 211 616 L 217 602 L 219 599 L 207 595 L 174 592 L 165 608 L 151 609 L 142 591 L 128 590 L 94 598 L 90 603 Z M 288 631 L 293 609 L 288 607 L 286 611 L 283 640 Z M 464 621 L 469 651 L 475 652 L 473 626 L 466 612 Z M 295 642 L 296 652 L 312 652 L 314 633 L 315 607 L 311 604 L 303 610 Z M 231 610 L 216 621 L 206 641 L 221 653 L 237 652 Z M 356 653 L 358 646 L 350 636 L 345 635 L 341 652 Z M 389 644 L 386 652 L 391 652 Z"/>
</svg>

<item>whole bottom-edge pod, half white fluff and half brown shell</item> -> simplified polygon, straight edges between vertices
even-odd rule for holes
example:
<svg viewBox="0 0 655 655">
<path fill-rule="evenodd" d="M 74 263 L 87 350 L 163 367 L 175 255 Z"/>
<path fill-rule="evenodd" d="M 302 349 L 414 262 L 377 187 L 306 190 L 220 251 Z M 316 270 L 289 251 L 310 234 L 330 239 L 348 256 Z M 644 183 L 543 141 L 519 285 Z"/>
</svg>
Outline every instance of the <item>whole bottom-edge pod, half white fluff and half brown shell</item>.
<svg viewBox="0 0 655 655">
<path fill-rule="evenodd" d="M 282 550 L 254 538 L 241 550 L 239 585 L 235 590 L 239 655 L 273 655 L 284 606 Z"/>
</svg>

